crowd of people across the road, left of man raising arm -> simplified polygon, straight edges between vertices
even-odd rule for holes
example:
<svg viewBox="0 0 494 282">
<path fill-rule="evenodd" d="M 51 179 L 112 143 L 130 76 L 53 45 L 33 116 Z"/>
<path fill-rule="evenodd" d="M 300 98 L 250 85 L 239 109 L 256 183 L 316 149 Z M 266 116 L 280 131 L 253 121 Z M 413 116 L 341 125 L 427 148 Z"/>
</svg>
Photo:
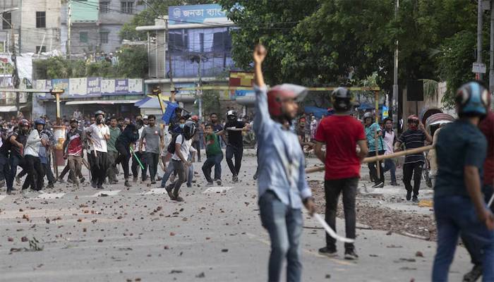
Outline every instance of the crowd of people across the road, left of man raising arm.
<svg viewBox="0 0 494 282">
<path fill-rule="evenodd" d="M 198 116 L 182 116 L 182 109 L 176 109 L 167 126 L 159 125 L 153 115 L 137 115 L 131 120 L 96 111 L 94 116 L 83 120 L 80 111 L 75 111 L 73 116 L 69 121 L 62 120 L 66 135 L 61 147 L 67 164 L 58 178 L 51 165 L 58 140 L 55 140 L 49 118 L 43 116 L 28 121 L 20 116 L 2 121 L 0 186 L 6 185 L 8 194 L 16 190 L 14 180 L 20 183 L 23 176 L 26 178 L 22 191 L 54 188 L 57 181 L 65 182 L 67 173 L 66 181 L 78 188 L 86 181 L 81 172 L 85 166 L 90 171 L 92 188 L 103 189 L 105 183 L 118 183 L 117 176 L 122 171 L 126 187 L 132 186 L 131 180 L 138 182 L 140 174 L 141 183 L 155 185 L 161 180 L 159 187 L 165 188 L 172 200 L 182 201 L 179 196 L 181 185 L 187 183 L 191 187 L 195 181 L 193 162 L 195 159 L 201 161 L 201 147 L 205 148 L 202 171 L 207 185 L 222 185 L 222 145 L 226 145 L 231 180 L 239 181 L 243 133 L 251 128 L 250 123 L 242 121 L 234 110 L 227 112 L 227 121 L 223 124 L 218 114 L 212 113 L 207 123 L 200 123 Z M 158 175 L 159 165 L 163 176 Z M 19 172 L 18 166 L 22 168 Z"/>
</svg>

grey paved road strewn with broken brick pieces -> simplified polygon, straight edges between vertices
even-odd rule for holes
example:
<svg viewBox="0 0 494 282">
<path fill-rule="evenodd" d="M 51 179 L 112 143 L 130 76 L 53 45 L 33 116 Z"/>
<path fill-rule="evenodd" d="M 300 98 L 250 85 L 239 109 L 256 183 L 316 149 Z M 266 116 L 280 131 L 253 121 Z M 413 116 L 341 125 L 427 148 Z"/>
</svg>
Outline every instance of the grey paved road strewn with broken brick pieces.
<svg viewBox="0 0 494 282">
<path fill-rule="evenodd" d="M 227 169 L 224 163 L 223 187 L 206 188 L 199 176 L 183 188 L 182 203 L 139 183 L 104 191 L 57 184 L 28 198 L 2 191 L 0 281 L 266 281 L 269 239 L 258 217 L 255 158 L 244 158 L 241 183 L 230 183 Z M 340 258 L 318 255 L 323 231 L 308 216 L 304 226 L 303 281 L 430 281 L 433 242 L 359 229 L 360 259 L 349 262 L 342 244 Z M 30 250 L 23 237 L 43 250 Z M 470 267 L 460 248 L 451 281 Z"/>
</svg>

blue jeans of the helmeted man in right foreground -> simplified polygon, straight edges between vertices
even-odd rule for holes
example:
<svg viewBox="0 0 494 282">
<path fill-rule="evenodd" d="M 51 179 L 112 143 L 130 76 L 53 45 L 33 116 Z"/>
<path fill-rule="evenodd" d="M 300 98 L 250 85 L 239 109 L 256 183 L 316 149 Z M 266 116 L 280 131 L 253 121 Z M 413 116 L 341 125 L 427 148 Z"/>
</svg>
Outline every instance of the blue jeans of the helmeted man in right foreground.
<svg viewBox="0 0 494 282">
<path fill-rule="evenodd" d="M 469 197 L 434 198 L 435 221 L 438 226 L 438 248 L 434 257 L 432 281 L 447 281 L 460 232 L 480 247 L 483 281 L 494 281 L 494 231 L 489 231 L 475 212 Z"/>
</svg>

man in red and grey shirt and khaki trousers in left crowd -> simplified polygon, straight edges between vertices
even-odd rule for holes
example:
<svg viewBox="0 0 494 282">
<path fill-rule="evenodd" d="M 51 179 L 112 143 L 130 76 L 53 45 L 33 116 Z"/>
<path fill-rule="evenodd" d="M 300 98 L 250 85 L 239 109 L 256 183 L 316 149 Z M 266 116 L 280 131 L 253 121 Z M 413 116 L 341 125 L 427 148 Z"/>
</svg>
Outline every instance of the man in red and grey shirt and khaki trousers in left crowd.
<svg viewBox="0 0 494 282">
<path fill-rule="evenodd" d="M 82 175 L 83 166 L 83 132 L 77 128 L 76 118 L 71 119 L 71 128 L 67 131 L 63 145 L 64 159 L 68 160 L 68 168 L 71 173 L 68 175 L 72 179 L 73 185 L 79 187 L 78 176 Z"/>
</svg>

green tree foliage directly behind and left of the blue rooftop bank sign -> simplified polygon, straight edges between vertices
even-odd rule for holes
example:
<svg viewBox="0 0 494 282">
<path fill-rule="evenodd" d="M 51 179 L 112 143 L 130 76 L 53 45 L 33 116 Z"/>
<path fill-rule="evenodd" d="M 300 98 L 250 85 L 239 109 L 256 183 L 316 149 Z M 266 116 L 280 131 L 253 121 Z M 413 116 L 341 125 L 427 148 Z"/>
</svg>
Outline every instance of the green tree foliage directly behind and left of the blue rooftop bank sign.
<svg viewBox="0 0 494 282">
<path fill-rule="evenodd" d="M 162 16 L 168 15 L 169 6 L 210 4 L 213 2 L 214 1 L 212 0 L 147 0 L 146 3 L 148 4 L 148 7 L 144 11 L 141 11 L 135 15 L 130 22 L 125 23 L 119 32 L 119 36 L 121 39 L 131 41 L 146 40 L 146 32 L 137 31 L 135 30 L 135 27 L 155 25 L 155 18 L 161 18 Z"/>
</svg>

